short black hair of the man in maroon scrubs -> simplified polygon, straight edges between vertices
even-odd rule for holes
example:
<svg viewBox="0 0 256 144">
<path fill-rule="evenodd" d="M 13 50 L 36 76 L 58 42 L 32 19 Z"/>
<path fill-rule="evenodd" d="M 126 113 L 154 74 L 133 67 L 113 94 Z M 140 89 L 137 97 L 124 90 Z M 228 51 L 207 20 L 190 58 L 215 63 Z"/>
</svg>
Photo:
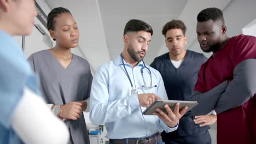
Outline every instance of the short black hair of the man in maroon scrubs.
<svg viewBox="0 0 256 144">
<path fill-rule="evenodd" d="M 223 23 L 225 23 L 222 10 L 218 8 L 207 8 L 200 11 L 200 13 L 197 15 L 197 22 L 205 22 L 209 20 L 221 20 Z"/>
</svg>

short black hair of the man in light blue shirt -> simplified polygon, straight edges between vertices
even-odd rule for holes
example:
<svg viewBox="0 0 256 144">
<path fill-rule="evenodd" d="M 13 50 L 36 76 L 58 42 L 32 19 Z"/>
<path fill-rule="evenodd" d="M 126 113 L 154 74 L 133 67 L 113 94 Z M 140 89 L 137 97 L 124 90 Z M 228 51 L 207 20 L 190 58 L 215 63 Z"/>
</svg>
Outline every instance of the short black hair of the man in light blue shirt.
<svg viewBox="0 0 256 144">
<path fill-rule="evenodd" d="M 124 28 L 124 35 L 127 32 L 138 32 L 138 31 L 146 31 L 151 33 L 151 35 L 153 35 L 153 29 L 150 25 L 148 25 L 148 23 L 142 20 L 135 20 L 135 19 L 132 19 L 126 23 Z"/>
</svg>

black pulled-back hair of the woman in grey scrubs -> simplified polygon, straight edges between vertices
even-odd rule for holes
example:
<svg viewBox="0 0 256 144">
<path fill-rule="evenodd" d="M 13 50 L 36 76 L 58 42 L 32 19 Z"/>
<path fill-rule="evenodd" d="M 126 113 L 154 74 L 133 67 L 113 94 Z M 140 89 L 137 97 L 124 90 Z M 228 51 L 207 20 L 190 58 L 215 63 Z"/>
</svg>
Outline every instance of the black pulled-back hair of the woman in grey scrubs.
<svg viewBox="0 0 256 144">
<path fill-rule="evenodd" d="M 58 7 L 58 8 L 54 8 L 50 11 L 50 13 L 48 14 L 47 16 L 47 28 L 48 30 L 54 30 L 54 18 L 59 16 L 60 14 L 63 14 L 63 13 L 70 13 L 70 11 L 66 8 L 62 8 L 62 7 Z"/>
</svg>

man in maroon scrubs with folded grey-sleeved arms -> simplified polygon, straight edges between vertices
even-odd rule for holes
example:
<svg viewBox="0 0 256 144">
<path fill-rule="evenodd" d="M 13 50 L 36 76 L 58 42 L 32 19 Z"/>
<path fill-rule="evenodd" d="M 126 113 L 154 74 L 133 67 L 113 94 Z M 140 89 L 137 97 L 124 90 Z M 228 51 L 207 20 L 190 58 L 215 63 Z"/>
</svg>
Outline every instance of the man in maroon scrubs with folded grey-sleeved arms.
<svg viewBox="0 0 256 144">
<path fill-rule="evenodd" d="M 223 13 L 207 8 L 197 15 L 201 49 L 213 52 L 199 71 L 190 100 L 194 115 L 217 112 L 217 142 L 256 143 L 256 38 L 229 38 Z"/>
</svg>

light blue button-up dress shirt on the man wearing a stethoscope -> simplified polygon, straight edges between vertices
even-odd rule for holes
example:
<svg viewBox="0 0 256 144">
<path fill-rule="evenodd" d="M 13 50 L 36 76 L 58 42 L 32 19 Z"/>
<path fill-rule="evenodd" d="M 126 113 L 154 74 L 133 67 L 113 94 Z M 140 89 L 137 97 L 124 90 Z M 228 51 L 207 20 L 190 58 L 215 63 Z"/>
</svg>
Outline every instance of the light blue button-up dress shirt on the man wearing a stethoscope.
<svg viewBox="0 0 256 144">
<path fill-rule="evenodd" d="M 156 87 L 145 89 L 142 87 L 144 82 L 141 75 L 143 62 L 135 67 L 125 61 L 124 64 L 138 94 L 154 93 L 164 100 L 168 99 L 159 71 L 146 65 L 152 73 L 152 86 Z M 143 74 L 149 86 L 149 73 L 146 71 Z M 168 127 L 158 116 L 142 115 L 146 107 L 139 105 L 138 95 L 131 95 L 131 89 L 120 55 L 115 61 L 98 68 L 94 75 L 90 95 L 90 120 L 94 125 L 106 125 L 108 139 L 146 137 L 163 130 L 168 133 L 177 129 L 178 126 Z"/>
</svg>

